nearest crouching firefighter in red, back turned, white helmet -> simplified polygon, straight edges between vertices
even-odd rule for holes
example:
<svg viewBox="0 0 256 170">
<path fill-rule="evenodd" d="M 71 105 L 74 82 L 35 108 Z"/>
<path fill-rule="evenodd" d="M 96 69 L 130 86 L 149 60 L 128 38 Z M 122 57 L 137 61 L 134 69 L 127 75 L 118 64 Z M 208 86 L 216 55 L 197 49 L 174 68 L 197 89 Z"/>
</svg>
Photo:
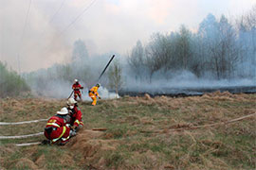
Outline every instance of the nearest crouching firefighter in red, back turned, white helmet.
<svg viewBox="0 0 256 170">
<path fill-rule="evenodd" d="M 66 108 L 62 108 L 62 110 L 57 111 L 56 115 L 49 118 L 46 123 L 45 136 L 50 144 L 64 145 L 70 137 L 76 135 L 76 132 L 66 124 L 69 121 L 70 116 Z"/>
</svg>

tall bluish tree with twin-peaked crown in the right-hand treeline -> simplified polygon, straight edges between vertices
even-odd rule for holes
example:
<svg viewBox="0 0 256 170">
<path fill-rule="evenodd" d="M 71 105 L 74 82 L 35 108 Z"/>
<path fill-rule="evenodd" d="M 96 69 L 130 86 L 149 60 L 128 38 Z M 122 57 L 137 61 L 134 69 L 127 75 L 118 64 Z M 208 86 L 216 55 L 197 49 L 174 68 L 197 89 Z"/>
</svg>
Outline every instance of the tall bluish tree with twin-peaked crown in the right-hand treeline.
<svg viewBox="0 0 256 170">
<path fill-rule="evenodd" d="M 201 39 L 199 56 L 204 61 L 205 70 L 209 70 L 218 79 L 233 76 L 234 67 L 239 59 L 240 50 L 236 34 L 228 19 L 222 15 L 217 22 L 212 14 L 200 24 L 198 37 Z"/>
</svg>

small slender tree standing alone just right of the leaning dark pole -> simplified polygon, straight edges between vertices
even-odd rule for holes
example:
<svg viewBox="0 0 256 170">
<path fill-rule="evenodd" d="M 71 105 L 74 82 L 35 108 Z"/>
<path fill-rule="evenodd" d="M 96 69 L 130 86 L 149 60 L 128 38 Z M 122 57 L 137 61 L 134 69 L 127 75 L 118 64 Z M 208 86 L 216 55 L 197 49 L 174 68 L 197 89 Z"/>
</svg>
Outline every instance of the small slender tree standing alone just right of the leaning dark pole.
<svg viewBox="0 0 256 170">
<path fill-rule="evenodd" d="M 109 68 L 108 81 L 110 88 L 115 89 L 115 92 L 118 94 L 121 86 L 124 83 L 122 80 L 122 69 L 118 60 L 115 60 L 114 64 Z"/>
</svg>

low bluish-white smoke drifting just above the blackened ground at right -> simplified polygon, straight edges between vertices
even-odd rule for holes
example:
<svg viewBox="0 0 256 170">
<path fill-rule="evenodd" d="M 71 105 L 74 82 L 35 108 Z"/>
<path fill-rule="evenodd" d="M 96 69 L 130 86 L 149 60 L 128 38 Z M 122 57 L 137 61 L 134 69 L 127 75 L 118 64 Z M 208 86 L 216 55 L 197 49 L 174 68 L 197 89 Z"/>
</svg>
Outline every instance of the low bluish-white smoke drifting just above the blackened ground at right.
<svg viewBox="0 0 256 170">
<path fill-rule="evenodd" d="M 256 86 L 253 78 L 221 79 L 198 78 L 189 71 L 172 73 L 172 78 L 166 79 L 162 75 L 155 75 L 150 83 L 149 80 L 136 80 L 134 76 L 126 76 L 124 91 L 129 92 L 162 92 L 166 89 L 189 89 L 189 88 L 224 88 Z"/>
</svg>

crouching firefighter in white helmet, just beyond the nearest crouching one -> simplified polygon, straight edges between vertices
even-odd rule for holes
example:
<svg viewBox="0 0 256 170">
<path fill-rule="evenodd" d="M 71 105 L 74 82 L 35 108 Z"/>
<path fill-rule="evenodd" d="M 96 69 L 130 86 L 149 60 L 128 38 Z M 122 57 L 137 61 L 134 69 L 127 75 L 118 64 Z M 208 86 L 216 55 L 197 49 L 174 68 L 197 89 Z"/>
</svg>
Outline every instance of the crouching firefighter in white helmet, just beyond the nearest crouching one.
<svg viewBox="0 0 256 170">
<path fill-rule="evenodd" d="M 78 102 L 74 98 L 69 98 L 66 102 L 67 110 L 69 110 L 70 115 L 70 126 L 74 127 L 77 132 L 83 127 L 82 123 L 82 111 L 78 107 Z"/>
</svg>

